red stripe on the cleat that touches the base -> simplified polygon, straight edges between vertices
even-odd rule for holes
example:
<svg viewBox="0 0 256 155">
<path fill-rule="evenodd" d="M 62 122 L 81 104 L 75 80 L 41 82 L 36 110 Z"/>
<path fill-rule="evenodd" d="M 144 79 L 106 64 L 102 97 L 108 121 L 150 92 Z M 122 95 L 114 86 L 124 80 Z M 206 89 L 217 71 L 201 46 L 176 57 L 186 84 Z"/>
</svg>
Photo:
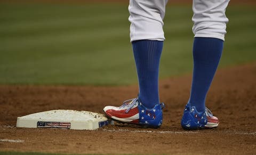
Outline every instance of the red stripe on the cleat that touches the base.
<svg viewBox="0 0 256 155">
<path fill-rule="evenodd" d="M 137 113 L 139 113 L 139 110 L 138 110 L 138 108 L 133 108 L 128 113 L 125 113 L 125 110 L 109 109 L 106 111 L 106 113 L 109 117 L 115 116 L 118 118 L 127 118 L 127 117 L 132 117 L 132 116 L 136 115 Z"/>
</svg>

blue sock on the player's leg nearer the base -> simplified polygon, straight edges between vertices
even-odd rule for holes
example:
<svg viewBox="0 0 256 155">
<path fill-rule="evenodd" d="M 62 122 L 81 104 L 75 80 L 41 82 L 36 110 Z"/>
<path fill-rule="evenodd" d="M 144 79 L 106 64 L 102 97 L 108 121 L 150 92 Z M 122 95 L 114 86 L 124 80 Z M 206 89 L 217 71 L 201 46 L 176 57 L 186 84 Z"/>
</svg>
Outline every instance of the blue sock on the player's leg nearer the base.
<svg viewBox="0 0 256 155">
<path fill-rule="evenodd" d="M 147 108 L 159 103 L 158 70 L 163 42 L 137 40 L 132 42 L 139 80 L 139 99 Z"/>
</svg>

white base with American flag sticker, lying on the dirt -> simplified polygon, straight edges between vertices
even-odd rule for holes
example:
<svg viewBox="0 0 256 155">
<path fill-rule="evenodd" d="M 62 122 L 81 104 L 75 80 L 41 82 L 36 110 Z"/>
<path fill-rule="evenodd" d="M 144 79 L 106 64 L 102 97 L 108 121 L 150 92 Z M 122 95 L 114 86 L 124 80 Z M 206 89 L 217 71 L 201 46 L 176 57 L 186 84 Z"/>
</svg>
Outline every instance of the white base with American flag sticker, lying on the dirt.
<svg viewBox="0 0 256 155">
<path fill-rule="evenodd" d="M 18 117 L 16 126 L 93 130 L 108 124 L 108 118 L 100 113 L 76 110 L 51 110 Z"/>
</svg>

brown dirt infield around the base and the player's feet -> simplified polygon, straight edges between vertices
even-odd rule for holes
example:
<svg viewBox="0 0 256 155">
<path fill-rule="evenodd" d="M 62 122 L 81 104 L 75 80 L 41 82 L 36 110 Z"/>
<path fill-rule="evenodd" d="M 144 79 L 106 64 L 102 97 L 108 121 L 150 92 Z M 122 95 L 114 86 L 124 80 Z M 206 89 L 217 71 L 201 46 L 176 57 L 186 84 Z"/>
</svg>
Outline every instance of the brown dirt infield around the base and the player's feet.
<svg viewBox="0 0 256 155">
<path fill-rule="evenodd" d="M 15 128 L 18 116 L 39 111 L 102 112 L 105 105 L 119 105 L 135 97 L 138 88 L 136 85 L 0 86 L 0 151 L 256 154 L 255 79 L 256 63 L 219 70 L 207 98 L 207 107 L 220 118 L 220 126 L 194 131 L 180 127 L 191 76 L 161 80 L 161 99 L 166 108 L 159 129 L 122 124 L 93 131 Z"/>
</svg>

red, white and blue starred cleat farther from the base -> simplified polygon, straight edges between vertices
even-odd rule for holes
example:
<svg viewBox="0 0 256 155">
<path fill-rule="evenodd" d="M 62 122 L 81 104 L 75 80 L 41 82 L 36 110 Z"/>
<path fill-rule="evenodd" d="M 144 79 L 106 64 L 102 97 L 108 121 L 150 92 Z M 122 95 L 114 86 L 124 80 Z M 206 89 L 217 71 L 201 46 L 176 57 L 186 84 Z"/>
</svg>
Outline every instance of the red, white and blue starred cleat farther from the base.
<svg viewBox="0 0 256 155">
<path fill-rule="evenodd" d="M 198 112 L 196 107 L 187 104 L 181 119 L 181 126 L 184 129 L 207 129 L 218 127 L 219 119 L 212 115 L 212 112 L 205 107 L 205 111 Z"/>
</svg>

